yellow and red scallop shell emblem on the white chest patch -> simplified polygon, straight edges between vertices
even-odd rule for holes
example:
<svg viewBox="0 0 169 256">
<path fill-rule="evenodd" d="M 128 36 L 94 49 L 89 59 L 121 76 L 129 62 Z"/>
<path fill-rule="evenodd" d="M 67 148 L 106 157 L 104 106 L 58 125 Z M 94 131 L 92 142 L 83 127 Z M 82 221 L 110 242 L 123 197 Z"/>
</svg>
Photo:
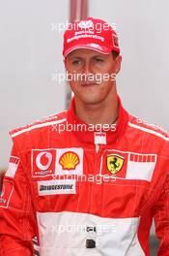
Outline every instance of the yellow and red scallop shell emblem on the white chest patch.
<svg viewBox="0 0 169 256">
<path fill-rule="evenodd" d="M 61 155 L 59 164 L 63 170 L 75 170 L 76 166 L 80 163 L 80 159 L 75 152 L 68 151 Z"/>
</svg>

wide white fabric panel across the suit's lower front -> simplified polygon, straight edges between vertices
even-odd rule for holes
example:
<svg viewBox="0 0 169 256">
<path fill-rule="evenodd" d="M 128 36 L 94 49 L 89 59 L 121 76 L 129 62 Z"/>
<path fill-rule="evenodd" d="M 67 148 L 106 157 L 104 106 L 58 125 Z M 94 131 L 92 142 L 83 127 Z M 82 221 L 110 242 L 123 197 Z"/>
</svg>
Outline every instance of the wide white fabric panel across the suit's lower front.
<svg viewBox="0 0 169 256">
<path fill-rule="evenodd" d="M 136 239 L 139 218 L 101 218 L 79 212 L 38 212 L 41 256 L 144 256 Z M 96 248 L 86 248 L 87 226 L 96 227 Z M 94 233 L 93 233 L 93 235 Z"/>
</svg>

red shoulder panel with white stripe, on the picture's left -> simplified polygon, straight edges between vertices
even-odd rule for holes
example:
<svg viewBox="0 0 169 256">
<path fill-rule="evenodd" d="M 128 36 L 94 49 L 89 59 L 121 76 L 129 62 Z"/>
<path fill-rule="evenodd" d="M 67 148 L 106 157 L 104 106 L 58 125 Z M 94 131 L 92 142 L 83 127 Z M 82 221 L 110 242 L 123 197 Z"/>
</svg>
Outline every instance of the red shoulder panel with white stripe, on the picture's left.
<svg viewBox="0 0 169 256">
<path fill-rule="evenodd" d="M 10 131 L 10 135 L 13 138 L 21 138 L 31 134 L 38 134 L 48 129 L 49 126 L 58 125 L 59 123 L 67 121 L 67 111 L 58 112 L 48 116 L 44 116 L 31 124 L 27 124 L 21 127 L 17 127 Z"/>
</svg>

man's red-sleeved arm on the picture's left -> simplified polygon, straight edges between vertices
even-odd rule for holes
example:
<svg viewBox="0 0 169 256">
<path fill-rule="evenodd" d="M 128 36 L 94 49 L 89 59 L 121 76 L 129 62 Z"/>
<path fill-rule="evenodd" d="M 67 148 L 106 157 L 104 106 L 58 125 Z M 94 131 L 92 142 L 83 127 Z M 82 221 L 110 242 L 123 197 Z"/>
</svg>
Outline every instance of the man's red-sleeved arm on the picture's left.
<svg viewBox="0 0 169 256">
<path fill-rule="evenodd" d="M 35 216 L 21 161 L 13 147 L 0 198 L 0 255 L 32 256 Z"/>
</svg>

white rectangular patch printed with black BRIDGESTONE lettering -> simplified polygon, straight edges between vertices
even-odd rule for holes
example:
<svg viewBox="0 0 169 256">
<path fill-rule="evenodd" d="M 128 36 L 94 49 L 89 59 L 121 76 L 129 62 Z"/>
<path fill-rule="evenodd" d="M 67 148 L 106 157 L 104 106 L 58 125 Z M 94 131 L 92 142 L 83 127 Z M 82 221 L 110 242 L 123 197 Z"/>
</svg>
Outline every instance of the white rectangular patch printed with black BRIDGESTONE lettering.
<svg viewBox="0 0 169 256">
<path fill-rule="evenodd" d="M 39 196 L 75 194 L 75 179 L 38 181 Z"/>
</svg>

